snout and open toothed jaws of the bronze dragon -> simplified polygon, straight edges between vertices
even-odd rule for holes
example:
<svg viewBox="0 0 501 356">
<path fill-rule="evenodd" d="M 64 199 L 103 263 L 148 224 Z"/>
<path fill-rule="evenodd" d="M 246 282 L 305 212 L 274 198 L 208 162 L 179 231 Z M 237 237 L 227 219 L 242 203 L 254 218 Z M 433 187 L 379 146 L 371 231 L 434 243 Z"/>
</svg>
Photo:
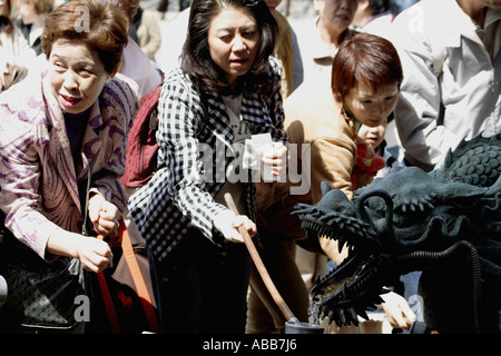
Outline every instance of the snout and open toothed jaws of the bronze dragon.
<svg viewBox="0 0 501 356">
<path fill-rule="evenodd" d="M 347 258 L 323 279 L 317 279 L 311 290 L 311 299 L 318 305 L 318 314 L 330 315 L 338 326 L 358 324 L 357 315 L 366 317 L 367 306 L 381 303 L 384 293 L 376 284 L 383 256 L 383 236 L 374 226 L 362 219 L 357 207 L 338 189 L 330 189 L 322 182 L 323 198 L 315 205 L 299 204 L 296 211 L 308 240 L 318 237 L 338 241 L 338 249 L 346 245 Z M 373 288 L 373 286 L 375 288 Z"/>
</svg>

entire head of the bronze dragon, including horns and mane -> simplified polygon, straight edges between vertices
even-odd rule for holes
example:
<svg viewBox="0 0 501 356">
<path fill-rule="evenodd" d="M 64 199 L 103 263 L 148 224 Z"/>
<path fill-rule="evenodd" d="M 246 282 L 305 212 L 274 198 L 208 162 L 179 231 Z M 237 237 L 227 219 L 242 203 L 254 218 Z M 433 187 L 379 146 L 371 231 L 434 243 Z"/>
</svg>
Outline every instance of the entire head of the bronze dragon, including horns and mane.
<svg viewBox="0 0 501 356">
<path fill-rule="evenodd" d="M 466 215 L 487 188 L 439 181 L 419 168 L 394 169 L 384 179 L 355 191 L 353 201 L 322 182 L 323 198 L 314 206 L 299 204 L 302 228 L 308 239 L 331 238 L 348 256 L 310 295 L 320 315 L 341 325 L 358 325 L 366 310 L 382 303 L 383 286 L 414 268 L 414 261 L 395 263 L 410 251 L 438 250 L 443 239 L 471 231 Z"/>
</svg>

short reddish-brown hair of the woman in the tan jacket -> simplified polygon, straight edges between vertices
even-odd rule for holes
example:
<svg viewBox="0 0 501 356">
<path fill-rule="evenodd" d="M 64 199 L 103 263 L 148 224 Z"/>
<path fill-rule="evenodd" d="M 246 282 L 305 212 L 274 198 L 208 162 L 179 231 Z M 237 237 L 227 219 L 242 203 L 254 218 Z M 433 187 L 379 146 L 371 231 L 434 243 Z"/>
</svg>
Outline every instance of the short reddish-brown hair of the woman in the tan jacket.
<svg viewBox="0 0 501 356">
<path fill-rule="evenodd" d="M 389 40 L 360 33 L 341 43 L 332 63 L 332 91 L 343 102 L 348 91 L 360 82 L 372 90 L 403 80 L 399 53 Z"/>
</svg>

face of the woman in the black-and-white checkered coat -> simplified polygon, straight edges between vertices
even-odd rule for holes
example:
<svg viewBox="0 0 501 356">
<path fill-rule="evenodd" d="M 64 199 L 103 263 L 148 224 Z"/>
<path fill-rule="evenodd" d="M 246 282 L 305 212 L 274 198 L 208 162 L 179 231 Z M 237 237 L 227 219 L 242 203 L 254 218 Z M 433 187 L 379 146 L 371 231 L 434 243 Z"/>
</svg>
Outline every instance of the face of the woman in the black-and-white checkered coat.
<svg viewBox="0 0 501 356">
<path fill-rule="evenodd" d="M 232 83 L 253 66 L 259 31 L 253 17 L 240 9 L 227 8 L 210 21 L 207 40 L 210 58 Z"/>
</svg>

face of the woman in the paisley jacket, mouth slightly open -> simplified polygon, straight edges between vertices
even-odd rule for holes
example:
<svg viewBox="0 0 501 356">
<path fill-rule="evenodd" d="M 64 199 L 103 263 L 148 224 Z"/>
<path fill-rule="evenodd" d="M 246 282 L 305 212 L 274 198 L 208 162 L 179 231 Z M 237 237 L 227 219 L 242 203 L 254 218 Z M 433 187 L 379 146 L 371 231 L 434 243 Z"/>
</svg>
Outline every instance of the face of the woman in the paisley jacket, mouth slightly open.
<svg viewBox="0 0 501 356">
<path fill-rule="evenodd" d="M 61 109 L 80 113 L 90 108 L 108 79 L 102 62 L 85 44 L 59 39 L 49 57 L 52 95 Z"/>
</svg>

